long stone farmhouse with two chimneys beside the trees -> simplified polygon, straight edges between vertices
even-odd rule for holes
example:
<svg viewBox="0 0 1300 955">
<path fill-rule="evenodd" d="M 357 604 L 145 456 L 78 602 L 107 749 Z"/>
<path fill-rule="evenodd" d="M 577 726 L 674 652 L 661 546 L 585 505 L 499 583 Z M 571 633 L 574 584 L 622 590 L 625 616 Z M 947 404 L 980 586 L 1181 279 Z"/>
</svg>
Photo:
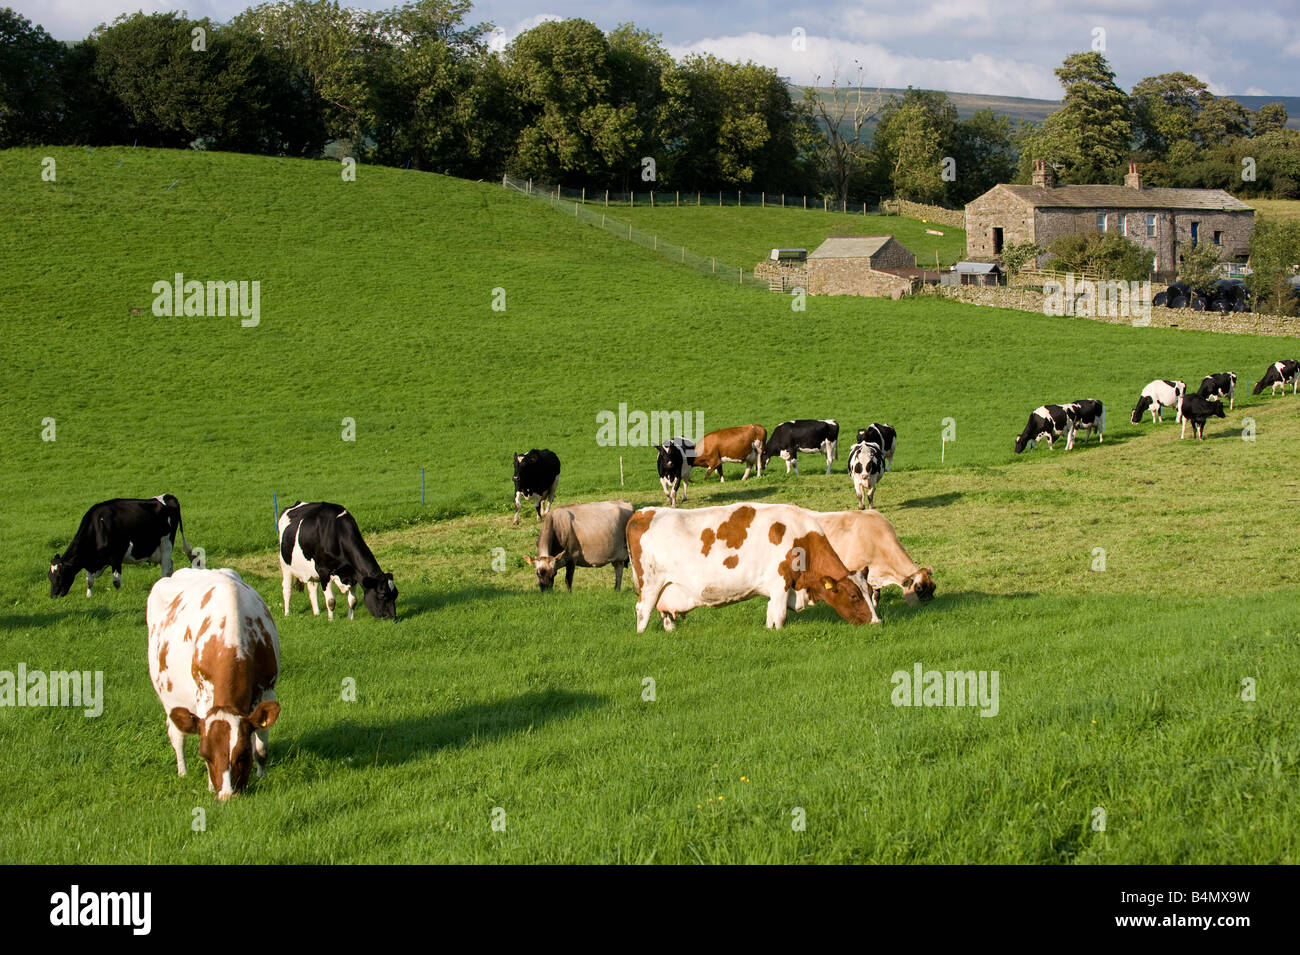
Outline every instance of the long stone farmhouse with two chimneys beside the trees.
<svg viewBox="0 0 1300 955">
<path fill-rule="evenodd" d="M 1212 243 L 1219 261 L 1249 256 L 1254 209 L 1219 188 L 1147 188 L 1138 164 L 1123 186 L 1057 186 L 1035 160 L 1032 185 L 998 185 L 966 205 L 966 257 L 993 261 L 1002 247 L 1062 235 L 1115 231 L 1150 249 L 1152 272 L 1176 272 L 1182 249 Z"/>
</svg>

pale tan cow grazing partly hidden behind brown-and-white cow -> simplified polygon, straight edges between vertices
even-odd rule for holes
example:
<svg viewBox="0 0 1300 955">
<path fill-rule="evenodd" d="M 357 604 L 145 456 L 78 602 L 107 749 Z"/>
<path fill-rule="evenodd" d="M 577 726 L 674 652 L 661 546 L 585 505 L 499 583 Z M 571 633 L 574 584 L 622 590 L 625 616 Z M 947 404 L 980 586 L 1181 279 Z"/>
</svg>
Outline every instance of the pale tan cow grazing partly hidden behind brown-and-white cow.
<svg viewBox="0 0 1300 955">
<path fill-rule="evenodd" d="M 916 607 L 935 598 L 935 569 L 916 567 L 893 525 L 879 511 L 811 512 L 826 531 L 831 547 L 840 556 L 859 587 L 879 591 L 902 587 L 904 599 Z M 866 591 L 863 591 L 866 592 Z M 803 609 L 807 594 L 800 592 L 794 609 Z"/>
</svg>

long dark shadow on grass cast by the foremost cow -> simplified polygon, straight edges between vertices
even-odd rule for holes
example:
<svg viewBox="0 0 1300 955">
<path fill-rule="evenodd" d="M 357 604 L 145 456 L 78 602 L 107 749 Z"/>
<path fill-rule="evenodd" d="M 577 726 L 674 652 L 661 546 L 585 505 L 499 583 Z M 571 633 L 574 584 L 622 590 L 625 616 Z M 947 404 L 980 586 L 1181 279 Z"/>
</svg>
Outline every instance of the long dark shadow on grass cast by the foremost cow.
<svg viewBox="0 0 1300 955">
<path fill-rule="evenodd" d="M 552 720 L 604 706 L 604 696 L 568 690 L 530 690 L 488 703 L 471 703 L 445 713 L 425 713 L 394 722 L 341 722 L 298 737 L 291 751 L 358 765 L 395 765 L 425 754 L 486 743 L 524 733 Z"/>
</svg>

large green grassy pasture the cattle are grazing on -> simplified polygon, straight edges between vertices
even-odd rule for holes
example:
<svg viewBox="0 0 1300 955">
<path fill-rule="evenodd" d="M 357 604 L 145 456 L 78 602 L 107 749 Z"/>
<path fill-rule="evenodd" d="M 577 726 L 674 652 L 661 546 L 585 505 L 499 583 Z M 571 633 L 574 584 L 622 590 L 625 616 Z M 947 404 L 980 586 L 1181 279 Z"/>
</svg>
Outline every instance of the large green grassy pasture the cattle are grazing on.
<svg viewBox="0 0 1300 955">
<path fill-rule="evenodd" d="M 329 162 L 143 149 L 0 152 L 0 670 L 105 674 L 98 719 L 0 708 L 0 861 L 1300 858 L 1300 399 L 1239 398 L 1204 443 L 1127 422 L 1153 377 L 1258 377 L 1300 343 L 931 299 L 798 313 L 421 173 L 344 183 Z M 736 238 L 679 220 L 682 240 L 767 233 L 764 210 L 723 212 Z M 177 272 L 260 281 L 260 324 L 153 317 L 152 283 Z M 1110 408 L 1105 444 L 1013 453 L 1032 408 L 1084 396 Z M 619 403 L 706 429 L 840 421 L 833 474 L 806 457 L 801 477 L 697 483 L 690 507 L 850 507 L 848 438 L 892 422 L 876 503 L 936 599 L 894 591 L 883 628 L 816 607 L 768 631 L 748 602 L 637 635 L 608 568 L 538 594 L 510 455 L 555 450 L 559 503 L 662 503 L 650 451 L 597 443 Z M 295 595 L 270 772 L 225 806 L 192 742 L 176 776 L 148 682 L 157 570 L 48 596 L 90 504 L 164 491 L 277 620 L 273 494 L 346 504 L 402 591 L 395 624 L 329 624 Z M 918 661 L 997 670 L 997 716 L 892 706 Z"/>
</svg>

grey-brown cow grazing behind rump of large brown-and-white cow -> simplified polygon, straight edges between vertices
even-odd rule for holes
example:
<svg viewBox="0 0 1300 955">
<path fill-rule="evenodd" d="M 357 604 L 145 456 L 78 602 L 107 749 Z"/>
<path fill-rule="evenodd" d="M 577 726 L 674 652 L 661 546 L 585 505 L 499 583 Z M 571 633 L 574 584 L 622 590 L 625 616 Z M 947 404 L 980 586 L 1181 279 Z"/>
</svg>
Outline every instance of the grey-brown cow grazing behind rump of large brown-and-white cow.
<svg viewBox="0 0 1300 955">
<path fill-rule="evenodd" d="M 606 564 L 614 564 L 614 589 L 621 589 L 629 517 L 632 505 L 625 500 L 569 504 L 547 512 L 537 535 L 537 556 L 524 557 L 537 570 L 538 589 L 550 590 L 563 567 L 564 586 L 573 590 L 573 568 Z"/>
</svg>

